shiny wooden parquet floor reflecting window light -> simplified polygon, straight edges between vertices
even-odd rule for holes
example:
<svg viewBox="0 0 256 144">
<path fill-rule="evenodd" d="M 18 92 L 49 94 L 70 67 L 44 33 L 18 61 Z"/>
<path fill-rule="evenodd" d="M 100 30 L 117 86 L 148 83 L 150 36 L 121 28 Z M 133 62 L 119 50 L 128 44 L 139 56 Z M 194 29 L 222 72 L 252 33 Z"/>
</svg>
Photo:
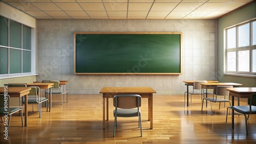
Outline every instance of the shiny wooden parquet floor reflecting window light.
<svg viewBox="0 0 256 144">
<path fill-rule="evenodd" d="M 226 107 L 213 104 L 201 112 L 201 100 L 193 95 L 185 107 L 183 95 L 154 95 L 153 129 L 147 121 L 147 99 L 142 99 L 142 132 L 137 117 L 118 118 L 113 138 L 114 117 L 110 99 L 110 120 L 102 129 L 102 95 L 70 94 L 69 103 L 59 103 L 54 96 L 51 112 L 42 108 L 42 116 L 32 112 L 29 105 L 28 127 L 21 127 L 20 117 L 14 114 L 8 138 L 4 139 L 4 124 L 0 123 L 0 143 L 256 143 L 256 115 L 250 115 L 248 135 L 243 115 L 235 115 L 231 129 L 231 115 L 225 123 Z M 208 103 L 209 104 L 209 103 Z M 241 102 L 240 105 L 246 104 Z M 226 105 L 227 106 L 227 105 Z M 35 107 L 36 108 L 36 107 Z"/>
</svg>

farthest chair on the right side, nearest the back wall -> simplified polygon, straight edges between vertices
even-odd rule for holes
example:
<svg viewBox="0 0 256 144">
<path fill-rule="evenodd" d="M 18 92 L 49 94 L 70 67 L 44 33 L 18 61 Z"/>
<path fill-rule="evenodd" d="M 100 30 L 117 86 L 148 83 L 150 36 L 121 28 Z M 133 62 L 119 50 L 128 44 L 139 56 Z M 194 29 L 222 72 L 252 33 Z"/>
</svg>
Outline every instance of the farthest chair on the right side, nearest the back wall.
<svg viewBox="0 0 256 144">
<path fill-rule="evenodd" d="M 190 94 L 190 101 L 192 102 L 192 94 L 201 94 L 201 101 L 202 95 L 204 94 L 204 89 L 201 88 L 201 83 L 207 83 L 207 81 L 195 81 L 193 84 L 193 91 L 188 92 Z M 186 102 L 186 92 L 184 92 L 184 102 Z"/>
</svg>

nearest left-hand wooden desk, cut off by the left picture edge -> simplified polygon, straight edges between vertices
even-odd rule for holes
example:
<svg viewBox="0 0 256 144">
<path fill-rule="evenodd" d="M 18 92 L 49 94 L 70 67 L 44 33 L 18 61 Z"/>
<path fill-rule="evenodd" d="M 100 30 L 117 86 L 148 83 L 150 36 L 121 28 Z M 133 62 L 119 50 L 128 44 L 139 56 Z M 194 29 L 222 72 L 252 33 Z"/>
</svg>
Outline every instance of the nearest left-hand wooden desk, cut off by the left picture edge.
<svg viewBox="0 0 256 144">
<path fill-rule="evenodd" d="M 5 88 L 0 87 L 0 93 L 4 94 Z M 28 94 L 31 90 L 30 87 L 8 87 L 8 94 L 11 98 L 25 97 L 25 127 L 28 126 Z"/>
</svg>

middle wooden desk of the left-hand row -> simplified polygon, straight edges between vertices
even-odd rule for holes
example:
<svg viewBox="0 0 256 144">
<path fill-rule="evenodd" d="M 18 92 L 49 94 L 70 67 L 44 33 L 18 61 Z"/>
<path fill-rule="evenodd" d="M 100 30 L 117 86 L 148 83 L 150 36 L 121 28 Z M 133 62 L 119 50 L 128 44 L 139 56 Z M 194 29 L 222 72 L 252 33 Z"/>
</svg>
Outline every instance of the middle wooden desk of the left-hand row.
<svg viewBox="0 0 256 144">
<path fill-rule="evenodd" d="M 51 111 L 52 108 L 52 90 L 51 88 L 53 87 L 53 83 L 38 83 L 38 82 L 34 82 L 34 83 L 27 83 L 27 86 L 38 86 L 40 89 L 49 89 L 49 111 Z"/>
</svg>

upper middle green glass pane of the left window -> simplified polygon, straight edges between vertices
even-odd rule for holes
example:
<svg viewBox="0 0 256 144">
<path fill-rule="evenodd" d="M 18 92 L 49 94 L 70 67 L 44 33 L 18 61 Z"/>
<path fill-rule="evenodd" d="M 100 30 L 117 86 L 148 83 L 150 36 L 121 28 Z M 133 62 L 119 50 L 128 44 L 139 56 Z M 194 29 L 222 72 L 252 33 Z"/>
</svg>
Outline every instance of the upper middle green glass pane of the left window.
<svg viewBox="0 0 256 144">
<path fill-rule="evenodd" d="M 10 46 L 21 48 L 22 46 L 22 29 L 21 24 L 10 20 Z"/>
</svg>

